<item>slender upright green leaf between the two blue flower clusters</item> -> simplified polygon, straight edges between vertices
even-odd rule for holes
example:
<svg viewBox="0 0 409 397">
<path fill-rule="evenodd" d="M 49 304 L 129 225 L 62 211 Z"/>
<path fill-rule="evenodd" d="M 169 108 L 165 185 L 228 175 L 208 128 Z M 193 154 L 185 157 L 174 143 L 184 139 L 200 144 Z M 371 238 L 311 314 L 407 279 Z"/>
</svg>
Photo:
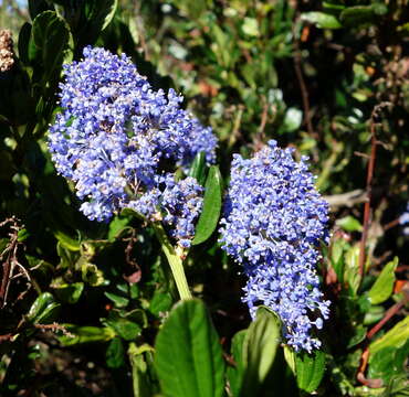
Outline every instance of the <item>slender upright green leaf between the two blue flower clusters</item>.
<svg viewBox="0 0 409 397">
<path fill-rule="evenodd" d="M 219 167 L 210 167 L 204 185 L 203 210 L 196 226 L 192 245 L 206 242 L 214 232 L 221 211 L 222 179 Z"/>
</svg>

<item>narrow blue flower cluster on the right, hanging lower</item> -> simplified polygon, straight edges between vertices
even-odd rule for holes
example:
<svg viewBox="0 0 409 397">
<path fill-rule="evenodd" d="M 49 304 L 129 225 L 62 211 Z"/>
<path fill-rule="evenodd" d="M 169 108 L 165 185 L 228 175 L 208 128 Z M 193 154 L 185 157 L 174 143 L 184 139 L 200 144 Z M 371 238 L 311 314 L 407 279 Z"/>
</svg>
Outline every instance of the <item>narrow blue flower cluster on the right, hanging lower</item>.
<svg viewBox="0 0 409 397">
<path fill-rule="evenodd" d="M 251 314 L 259 304 L 271 308 L 287 343 L 311 352 L 321 345 L 312 331 L 329 314 L 315 270 L 318 242 L 328 239 L 328 206 L 306 158 L 297 163 L 292 153 L 271 140 L 250 160 L 234 155 L 220 242 L 243 265 Z"/>
</svg>

